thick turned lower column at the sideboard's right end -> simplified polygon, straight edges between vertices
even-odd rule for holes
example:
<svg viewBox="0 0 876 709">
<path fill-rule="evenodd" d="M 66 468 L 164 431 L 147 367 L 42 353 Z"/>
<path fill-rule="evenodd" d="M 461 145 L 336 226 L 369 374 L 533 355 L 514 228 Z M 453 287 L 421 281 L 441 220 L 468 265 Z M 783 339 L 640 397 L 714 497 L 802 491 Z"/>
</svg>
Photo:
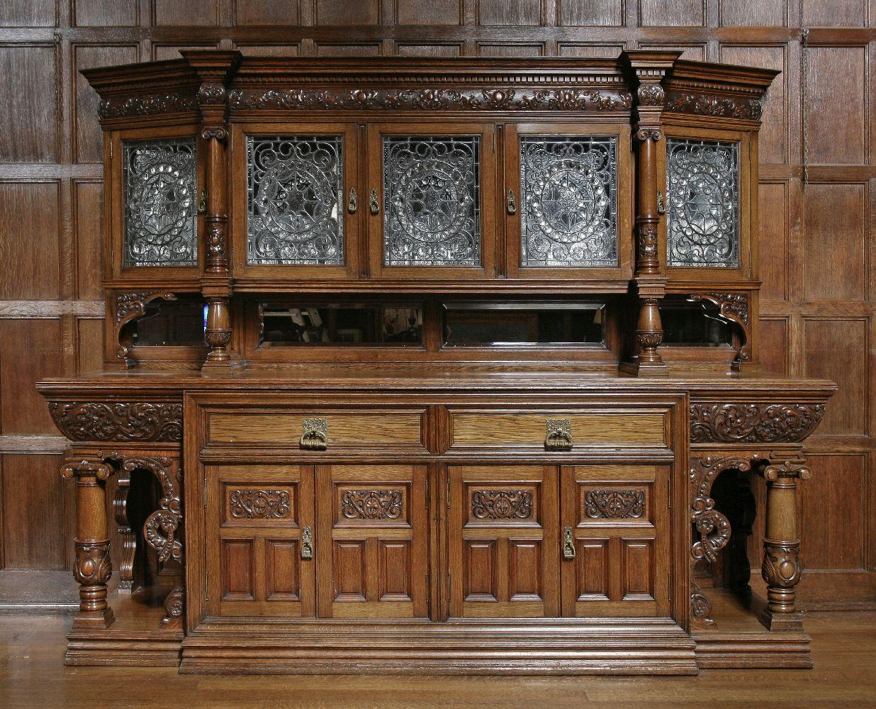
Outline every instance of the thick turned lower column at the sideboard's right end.
<svg viewBox="0 0 876 709">
<path fill-rule="evenodd" d="M 767 608 L 761 622 L 771 630 L 798 626 L 794 611 L 795 588 L 800 582 L 800 534 L 797 522 L 797 479 L 812 472 L 802 461 L 767 465 L 760 474 L 767 481 L 767 535 L 761 573 L 767 582 Z"/>
</svg>

